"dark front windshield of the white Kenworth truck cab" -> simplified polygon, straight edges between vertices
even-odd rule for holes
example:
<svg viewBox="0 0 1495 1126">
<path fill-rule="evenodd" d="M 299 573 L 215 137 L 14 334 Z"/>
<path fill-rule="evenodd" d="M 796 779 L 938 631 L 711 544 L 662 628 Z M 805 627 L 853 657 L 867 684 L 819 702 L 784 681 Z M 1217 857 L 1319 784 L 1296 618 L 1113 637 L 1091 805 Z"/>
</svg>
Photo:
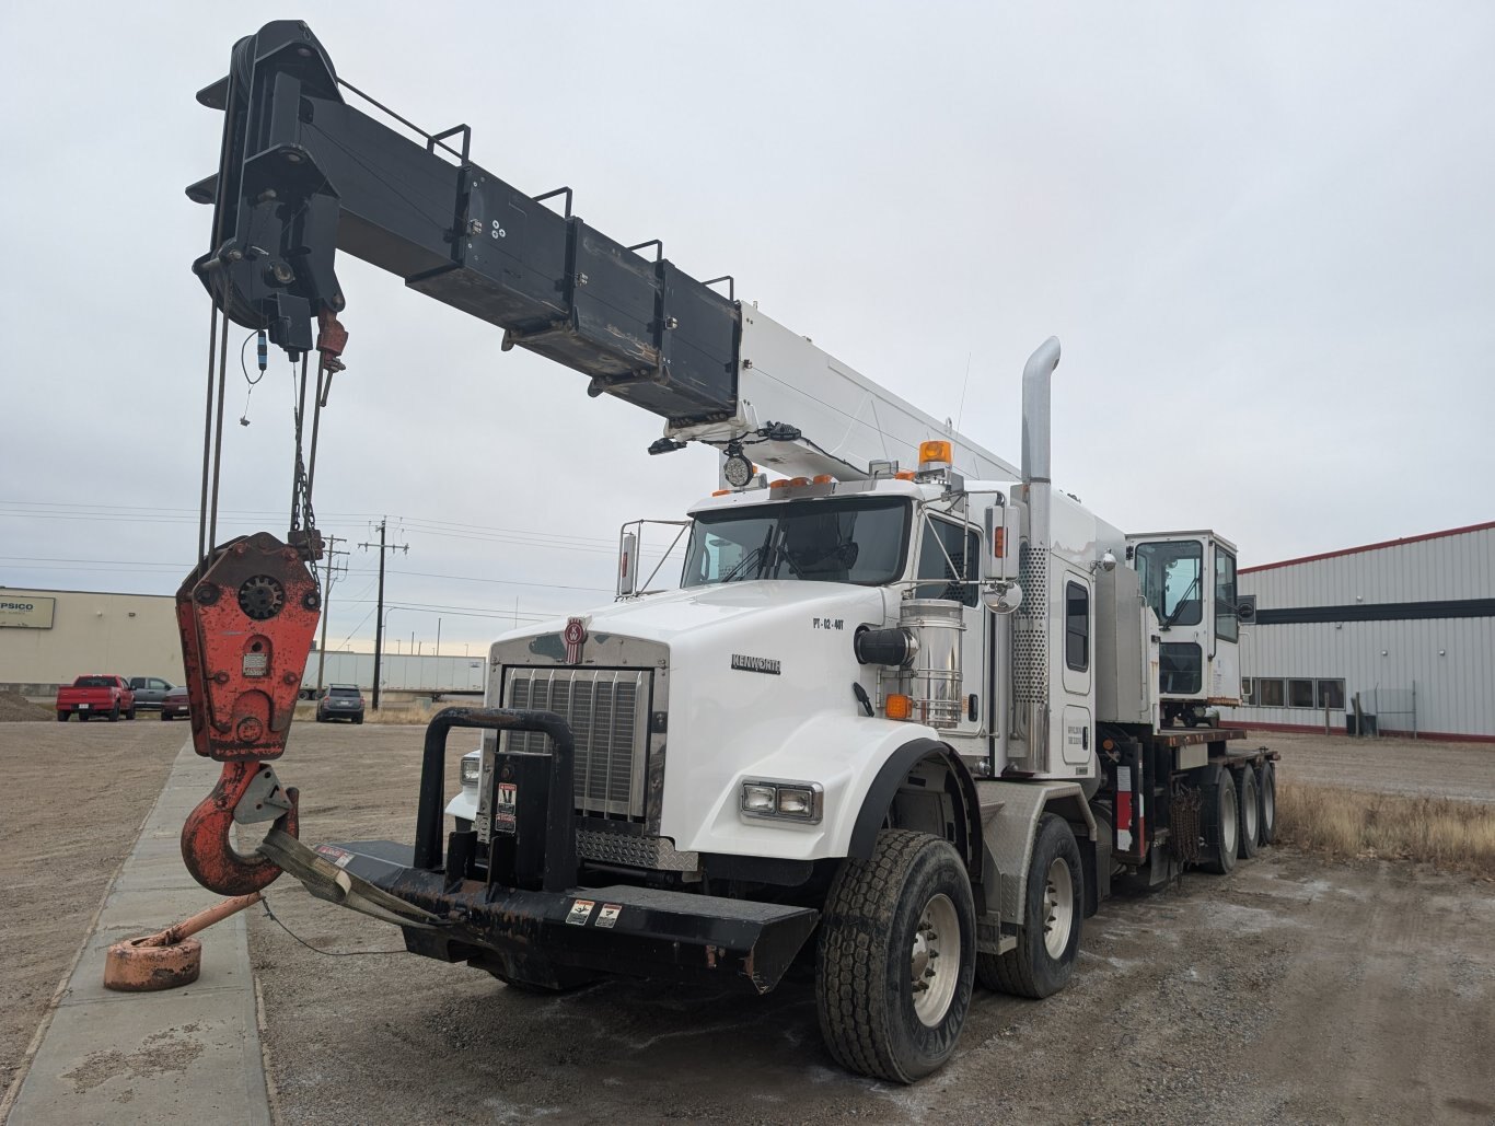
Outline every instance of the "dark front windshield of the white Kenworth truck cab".
<svg viewBox="0 0 1495 1126">
<path fill-rule="evenodd" d="M 804 579 L 881 586 L 903 574 L 910 513 L 897 496 L 701 513 L 691 526 L 680 585 Z"/>
</svg>

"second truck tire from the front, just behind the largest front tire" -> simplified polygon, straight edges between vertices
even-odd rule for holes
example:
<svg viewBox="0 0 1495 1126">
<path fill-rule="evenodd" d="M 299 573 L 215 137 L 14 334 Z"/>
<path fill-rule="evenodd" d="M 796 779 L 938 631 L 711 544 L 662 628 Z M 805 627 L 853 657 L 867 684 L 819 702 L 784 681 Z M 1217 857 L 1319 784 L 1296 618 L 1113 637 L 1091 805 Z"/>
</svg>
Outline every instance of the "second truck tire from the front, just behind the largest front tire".
<svg viewBox="0 0 1495 1126">
<path fill-rule="evenodd" d="M 1085 885 L 1079 845 L 1064 818 L 1044 813 L 1033 837 L 1018 945 L 981 954 L 981 984 L 1018 997 L 1048 997 L 1069 984 L 1079 956 Z"/>
</svg>

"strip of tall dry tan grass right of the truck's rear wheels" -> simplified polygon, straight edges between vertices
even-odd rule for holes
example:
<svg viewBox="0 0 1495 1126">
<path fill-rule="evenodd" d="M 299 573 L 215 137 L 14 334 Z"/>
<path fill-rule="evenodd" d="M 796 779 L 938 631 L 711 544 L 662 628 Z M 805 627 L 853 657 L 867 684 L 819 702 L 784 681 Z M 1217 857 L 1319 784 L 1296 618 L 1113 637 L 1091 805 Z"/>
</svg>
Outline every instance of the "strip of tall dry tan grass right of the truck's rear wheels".
<svg viewBox="0 0 1495 1126">
<path fill-rule="evenodd" d="M 1277 839 L 1332 857 L 1419 860 L 1495 879 L 1495 804 L 1278 778 Z"/>
</svg>

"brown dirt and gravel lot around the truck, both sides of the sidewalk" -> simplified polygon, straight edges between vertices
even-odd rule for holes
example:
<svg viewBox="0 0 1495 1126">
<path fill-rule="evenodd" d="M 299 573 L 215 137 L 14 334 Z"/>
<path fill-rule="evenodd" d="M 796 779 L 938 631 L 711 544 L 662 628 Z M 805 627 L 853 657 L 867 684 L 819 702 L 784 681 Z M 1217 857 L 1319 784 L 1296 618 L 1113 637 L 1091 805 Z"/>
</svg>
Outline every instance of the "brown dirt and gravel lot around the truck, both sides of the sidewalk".
<svg viewBox="0 0 1495 1126">
<path fill-rule="evenodd" d="M 30 966 L 0 985 L 7 1066 L 184 734 L 155 721 L 0 725 L 10 842 L 0 938 Z M 471 739 L 453 736 L 453 760 Z M 1289 778 L 1343 781 L 1334 775 L 1347 749 L 1269 742 L 1284 749 Z M 280 773 L 302 787 L 303 836 L 408 840 L 419 745 L 419 728 L 298 727 Z M 1437 751 L 1453 755 L 1450 785 L 1495 797 L 1491 748 Z M 1399 788 L 1426 769 L 1399 761 L 1401 773 L 1374 784 Z M 28 810 L 24 796 L 49 790 L 88 803 L 87 848 L 69 821 Z M 395 929 L 289 879 L 269 897 L 318 947 L 401 945 Z M 43 953 L 43 911 L 67 912 L 57 951 Z M 259 914 L 251 948 L 284 1123 L 1491 1122 L 1491 933 L 1488 882 L 1275 849 L 1229 878 L 1190 876 L 1178 891 L 1105 905 L 1087 923 L 1069 990 L 1045 1002 L 978 993 L 957 1057 L 913 1089 L 837 1071 L 807 985 L 748 997 L 608 982 L 532 997 L 404 953 L 323 957 Z"/>
</svg>

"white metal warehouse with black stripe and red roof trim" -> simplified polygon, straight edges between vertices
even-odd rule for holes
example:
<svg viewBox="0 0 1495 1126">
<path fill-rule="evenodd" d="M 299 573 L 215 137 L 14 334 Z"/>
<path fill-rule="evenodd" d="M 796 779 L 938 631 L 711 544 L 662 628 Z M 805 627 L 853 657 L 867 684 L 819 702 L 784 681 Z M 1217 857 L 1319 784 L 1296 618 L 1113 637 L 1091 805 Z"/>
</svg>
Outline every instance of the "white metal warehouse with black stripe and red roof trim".
<svg viewBox="0 0 1495 1126">
<path fill-rule="evenodd" d="M 1244 567 L 1254 728 L 1495 742 L 1495 520 Z"/>
</svg>

